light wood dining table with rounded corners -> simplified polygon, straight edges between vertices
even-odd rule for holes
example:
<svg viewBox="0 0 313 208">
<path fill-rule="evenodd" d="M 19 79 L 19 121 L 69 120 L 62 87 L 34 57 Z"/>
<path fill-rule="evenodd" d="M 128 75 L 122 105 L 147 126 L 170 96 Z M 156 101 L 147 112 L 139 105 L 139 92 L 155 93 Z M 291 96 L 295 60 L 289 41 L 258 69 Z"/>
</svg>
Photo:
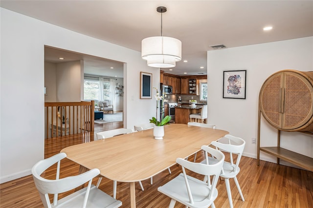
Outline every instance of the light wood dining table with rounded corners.
<svg viewBox="0 0 313 208">
<path fill-rule="evenodd" d="M 80 165 L 80 172 L 98 168 L 100 175 L 112 181 L 130 183 L 131 207 L 136 207 L 134 182 L 151 178 L 209 145 L 227 131 L 185 124 L 164 126 L 162 140 L 153 137 L 153 129 L 123 134 L 108 139 L 69 146 L 61 150 Z"/>
</svg>

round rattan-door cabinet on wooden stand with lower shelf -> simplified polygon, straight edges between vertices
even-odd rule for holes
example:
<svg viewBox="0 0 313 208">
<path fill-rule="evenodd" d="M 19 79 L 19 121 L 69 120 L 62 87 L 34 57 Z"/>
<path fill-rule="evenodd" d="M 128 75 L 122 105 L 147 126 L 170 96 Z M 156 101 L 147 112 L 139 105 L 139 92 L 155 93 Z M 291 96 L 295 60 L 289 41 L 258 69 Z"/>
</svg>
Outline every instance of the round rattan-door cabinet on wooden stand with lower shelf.
<svg viewBox="0 0 313 208">
<path fill-rule="evenodd" d="M 277 146 L 260 147 L 261 115 L 278 129 Z M 277 157 L 277 164 L 282 159 L 313 171 L 313 158 L 280 147 L 281 131 L 313 135 L 313 71 L 286 69 L 272 74 L 263 83 L 259 95 L 257 152 L 258 165 L 260 151 L 264 151 Z"/>
</svg>

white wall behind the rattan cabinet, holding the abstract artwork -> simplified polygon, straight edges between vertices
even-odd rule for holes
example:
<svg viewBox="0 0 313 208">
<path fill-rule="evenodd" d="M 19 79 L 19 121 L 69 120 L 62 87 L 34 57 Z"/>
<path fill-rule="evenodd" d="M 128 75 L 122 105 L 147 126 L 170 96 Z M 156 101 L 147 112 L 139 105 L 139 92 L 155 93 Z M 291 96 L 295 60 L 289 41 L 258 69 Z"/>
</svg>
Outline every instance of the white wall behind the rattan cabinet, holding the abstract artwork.
<svg viewBox="0 0 313 208">
<path fill-rule="evenodd" d="M 258 98 L 264 81 L 283 69 L 313 70 L 313 37 L 270 42 L 207 52 L 208 123 L 246 140 L 245 155 L 256 158 Z M 223 99 L 223 71 L 246 71 L 246 100 Z M 277 145 L 277 130 L 261 120 L 261 146 Z M 313 157 L 313 136 L 282 132 L 281 146 Z M 261 152 L 261 159 L 276 158 Z"/>
</svg>

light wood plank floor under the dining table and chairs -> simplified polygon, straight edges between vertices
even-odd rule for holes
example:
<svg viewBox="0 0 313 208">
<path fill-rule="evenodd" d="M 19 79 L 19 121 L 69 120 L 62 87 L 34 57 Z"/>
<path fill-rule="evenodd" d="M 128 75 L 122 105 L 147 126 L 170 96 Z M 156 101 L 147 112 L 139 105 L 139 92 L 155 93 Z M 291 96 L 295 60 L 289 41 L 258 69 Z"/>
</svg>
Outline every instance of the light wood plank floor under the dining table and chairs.
<svg viewBox="0 0 313 208">
<path fill-rule="evenodd" d="M 96 124 L 95 132 L 123 127 L 122 122 L 109 124 Z M 62 148 L 88 142 L 93 140 L 94 135 L 81 135 L 74 137 L 58 138 L 47 140 L 45 144 L 45 157 L 54 155 Z M 227 156 L 226 156 L 227 157 Z M 190 158 L 192 160 L 193 158 Z M 203 154 L 198 154 L 197 161 L 204 159 Z M 233 180 L 230 180 L 234 208 L 312 208 L 313 207 L 313 172 L 292 168 L 288 166 L 276 165 L 261 161 L 260 166 L 256 165 L 256 159 L 243 157 L 241 161 L 241 172 L 238 175 L 245 202 L 240 199 L 240 195 Z M 61 162 L 61 176 L 75 175 L 79 166 L 67 159 Z M 55 166 L 45 171 L 44 175 L 52 179 L 54 177 Z M 138 208 L 165 208 L 168 207 L 170 199 L 159 193 L 157 187 L 175 178 L 180 172 L 178 165 L 171 167 L 172 174 L 167 170 L 154 176 L 154 184 L 150 185 L 150 180 L 142 181 L 145 188 L 141 191 L 138 183 L 136 188 L 136 205 Z M 196 174 L 191 174 L 199 177 Z M 96 183 L 94 180 L 94 184 Z M 112 195 L 112 181 L 103 179 L 100 189 Z M 224 181 L 219 181 L 217 185 L 219 195 L 215 201 L 217 208 L 228 208 L 227 193 Z M 71 191 L 60 194 L 64 197 Z M 123 203 L 123 208 L 130 207 L 130 192 L 128 183 L 117 183 L 117 199 Z M 26 176 L 14 181 L 1 184 L 0 187 L 0 207 L 1 208 L 41 208 L 43 207 L 38 191 L 33 182 L 32 176 Z M 176 208 L 182 208 L 176 203 Z"/>
</svg>

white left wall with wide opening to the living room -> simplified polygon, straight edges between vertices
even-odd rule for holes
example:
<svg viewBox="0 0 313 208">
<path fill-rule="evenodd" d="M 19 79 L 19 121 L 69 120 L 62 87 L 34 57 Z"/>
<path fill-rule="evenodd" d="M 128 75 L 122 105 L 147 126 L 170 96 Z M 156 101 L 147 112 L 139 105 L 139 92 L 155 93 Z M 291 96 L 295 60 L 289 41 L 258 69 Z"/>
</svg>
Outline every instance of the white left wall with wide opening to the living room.
<svg viewBox="0 0 313 208">
<path fill-rule="evenodd" d="M 0 21 L 0 183 L 29 175 L 44 158 L 44 45 L 124 62 L 124 127 L 134 128 L 154 116 L 155 100 L 139 99 L 139 75 L 152 73 L 158 87 L 159 69 L 147 66 L 140 52 L 4 8 Z M 17 100 L 23 104 L 20 124 L 16 119 L 21 111 L 13 110 L 21 109 Z"/>
</svg>

